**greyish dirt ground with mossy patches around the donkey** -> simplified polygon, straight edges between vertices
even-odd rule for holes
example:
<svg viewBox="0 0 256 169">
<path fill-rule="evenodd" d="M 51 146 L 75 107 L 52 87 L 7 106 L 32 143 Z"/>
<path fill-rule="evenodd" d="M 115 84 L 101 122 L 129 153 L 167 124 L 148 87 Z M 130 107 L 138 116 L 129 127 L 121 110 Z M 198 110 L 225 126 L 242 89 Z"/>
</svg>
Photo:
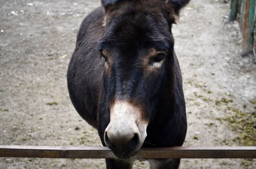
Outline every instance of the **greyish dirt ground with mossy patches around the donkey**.
<svg viewBox="0 0 256 169">
<path fill-rule="evenodd" d="M 0 0 L 0 144 L 100 146 L 66 72 L 83 18 L 99 0 Z M 188 131 L 184 146 L 256 146 L 256 60 L 241 57 L 223 0 L 192 0 L 174 26 Z M 0 158 L 0 169 L 104 169 L 104 159 Z M 181 169 L 255 169 L 246 159 L 182 159 Z M 136 162 L 134 169 L 149 169 Z"/>
</svg>

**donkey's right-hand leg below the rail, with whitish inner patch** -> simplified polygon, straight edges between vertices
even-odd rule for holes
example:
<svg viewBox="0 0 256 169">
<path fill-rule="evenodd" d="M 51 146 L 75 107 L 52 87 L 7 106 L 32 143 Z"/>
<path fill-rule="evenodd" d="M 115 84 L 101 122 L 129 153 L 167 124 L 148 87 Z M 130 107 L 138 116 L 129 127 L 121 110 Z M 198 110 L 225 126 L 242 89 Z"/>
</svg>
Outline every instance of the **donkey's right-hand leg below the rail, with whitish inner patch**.
<svg viewBox="0 0 256 169">
<path fill-rule="evenodd" d="M 150 169 L 178 169 L 180 166 L 179 158 L 170 159 L 149 159 Z"/>
</svg>

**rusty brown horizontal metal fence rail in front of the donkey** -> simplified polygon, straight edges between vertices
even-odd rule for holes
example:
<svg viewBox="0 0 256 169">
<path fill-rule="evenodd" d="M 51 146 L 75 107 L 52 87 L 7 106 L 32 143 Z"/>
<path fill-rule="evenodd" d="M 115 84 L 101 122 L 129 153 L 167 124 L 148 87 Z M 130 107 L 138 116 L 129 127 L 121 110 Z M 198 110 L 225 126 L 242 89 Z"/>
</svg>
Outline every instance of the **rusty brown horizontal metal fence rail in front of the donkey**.
<svg viewBox="0 0 256 169">
<path fill-rule="evenodd" d="M 0 157 L 13 158 L 111 158 L 107 147 L 1 146 Z M 256 146 L 169 147 L 142 149 L 147 158 L 256 158 Z"/>
</svg>

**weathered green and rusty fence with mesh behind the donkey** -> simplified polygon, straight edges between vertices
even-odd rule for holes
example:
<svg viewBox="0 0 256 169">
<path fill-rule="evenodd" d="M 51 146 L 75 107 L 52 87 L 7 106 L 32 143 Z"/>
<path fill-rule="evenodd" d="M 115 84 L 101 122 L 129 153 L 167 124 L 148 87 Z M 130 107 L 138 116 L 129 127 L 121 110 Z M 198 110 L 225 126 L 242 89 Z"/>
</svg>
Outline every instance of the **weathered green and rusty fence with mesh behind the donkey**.
<svg viewBox="0 0 256 169">
<path fill-rule="evenodd" d="M 256 0 L 230 0 L 229 21 L 238 20 L 243 35 L 243 52 L 256 54 Z"/>
</svg>

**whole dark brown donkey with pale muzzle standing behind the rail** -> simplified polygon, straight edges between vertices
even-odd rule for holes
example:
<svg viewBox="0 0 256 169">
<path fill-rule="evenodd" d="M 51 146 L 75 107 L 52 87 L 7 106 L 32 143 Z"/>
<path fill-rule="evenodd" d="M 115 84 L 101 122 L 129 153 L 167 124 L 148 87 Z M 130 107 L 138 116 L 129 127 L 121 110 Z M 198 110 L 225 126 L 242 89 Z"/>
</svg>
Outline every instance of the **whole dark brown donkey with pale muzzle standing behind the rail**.
<svg viewBox="0 0 256 169">
<path fill-rule="evenodd" d="M 186 107 L 172 24 L 189 0 L 102 0 L 82 22 L 67 82 L 77 112 L 131 169 L 142 147 L 182 146 Z M 180 159 L 149 160 L 177 169 Z"/>
</svg>

